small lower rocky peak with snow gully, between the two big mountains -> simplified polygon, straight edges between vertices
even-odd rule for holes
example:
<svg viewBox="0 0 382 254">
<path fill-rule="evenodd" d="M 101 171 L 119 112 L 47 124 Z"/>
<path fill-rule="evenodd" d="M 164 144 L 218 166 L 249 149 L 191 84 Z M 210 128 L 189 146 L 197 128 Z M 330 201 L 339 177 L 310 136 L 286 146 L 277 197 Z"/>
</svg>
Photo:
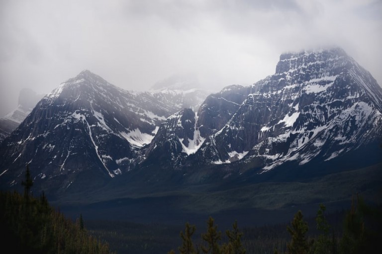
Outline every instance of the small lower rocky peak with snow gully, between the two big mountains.
<svg viewBox="0 0 382 254">
<path fill-rule="evenodd" d="M 145 160 L 140 166 L 184 167 L 187 157 L 232 118 L 250 90 L 250 87 L 231 85 L 210 94 L 197 112 L 183 109 L 170 116 L 145 150 Z"/>
</svg>

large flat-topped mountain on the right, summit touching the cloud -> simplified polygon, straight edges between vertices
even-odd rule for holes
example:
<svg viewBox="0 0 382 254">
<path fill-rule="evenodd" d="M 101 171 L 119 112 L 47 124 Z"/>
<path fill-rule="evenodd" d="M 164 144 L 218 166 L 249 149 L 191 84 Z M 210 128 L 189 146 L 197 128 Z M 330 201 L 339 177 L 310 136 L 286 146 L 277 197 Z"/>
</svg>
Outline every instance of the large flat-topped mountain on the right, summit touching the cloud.
<svg viewBox="0 0 382 254">
<path fill-rule="evenodd" d="M 285 54 L 196 154 L 203 163 L 330 160 L 382 134 L 382 89 L 338 48 Z"/>
</svg>

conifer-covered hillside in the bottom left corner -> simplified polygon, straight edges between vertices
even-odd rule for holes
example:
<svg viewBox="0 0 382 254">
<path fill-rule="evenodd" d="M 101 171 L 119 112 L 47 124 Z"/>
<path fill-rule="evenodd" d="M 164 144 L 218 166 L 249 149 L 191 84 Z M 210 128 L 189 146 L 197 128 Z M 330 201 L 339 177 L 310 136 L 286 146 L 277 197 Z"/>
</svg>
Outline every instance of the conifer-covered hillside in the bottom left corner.
<svg viewBox="0 0 382 254">
<path fill-rule="evenodd" d="M 0 192 L 2 250 L 12 253 L 109 254 L 109 247 L 88 234 L 82 215 L 76 222 L 51 207 L 44 193 L 30 194 L 33 181 L 27 167 L 24 194 Z"/>
</svg>

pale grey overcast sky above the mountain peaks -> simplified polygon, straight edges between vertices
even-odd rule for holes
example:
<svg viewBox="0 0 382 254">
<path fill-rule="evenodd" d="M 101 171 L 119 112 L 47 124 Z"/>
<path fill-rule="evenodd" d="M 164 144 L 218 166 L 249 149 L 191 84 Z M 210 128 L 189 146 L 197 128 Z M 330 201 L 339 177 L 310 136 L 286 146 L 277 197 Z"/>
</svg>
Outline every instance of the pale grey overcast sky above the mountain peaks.
<svg viewBox="0 0 382 254">
<path fill-rule="evenodd" d="M 0 116 L 89 69 L 128 90 L 252 84 L 280 54 L 342 47 L 382 84 L 382 0 L 0 0 Z"/>
</svg>

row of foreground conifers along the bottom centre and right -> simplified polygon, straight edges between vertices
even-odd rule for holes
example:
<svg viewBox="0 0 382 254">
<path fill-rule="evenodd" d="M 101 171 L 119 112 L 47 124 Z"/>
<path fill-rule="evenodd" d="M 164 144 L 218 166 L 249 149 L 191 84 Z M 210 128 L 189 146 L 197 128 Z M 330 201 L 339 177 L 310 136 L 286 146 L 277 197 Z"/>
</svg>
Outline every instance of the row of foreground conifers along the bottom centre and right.
<svg viewBox="0 0 382 254">
<path fill-rule="evenodd" d="M 207 229 L 196 240 L 193 236 L 196 231 L 194 225 L 186 223 L 180 237 L 182 245 L 177 252 L 171 250 L 168 254 L 248 254 L 248 253 L 274 253 L 274 254 L 364 254 L 376 253 L 380 249 L 382 240 L 382 211 L 381 207 L 372 207 L 365 204 L 357 195 L 353 198 L 351 209 L 347 211 L 343 222 L 342 233 L 338 237 L 332 231 L 326 215 L 326 207 L 321 204 L 315 218 L 315 234 L 308 235 L 308 223 L 299 210 L 290 225 L 286 227 L 289 234 L 288 241 L 275 235 L 266 233 L 262 239 L 243 243 L 244 233 L 239 230 L 237 222 L 232 230 L 225 234 L 218 231 L 214 219 L 209 217 Z M 248 238 L 247 238 L 248 239 Z M 249 251 L 246 247 L 250 247 Z"/>
</svg>

